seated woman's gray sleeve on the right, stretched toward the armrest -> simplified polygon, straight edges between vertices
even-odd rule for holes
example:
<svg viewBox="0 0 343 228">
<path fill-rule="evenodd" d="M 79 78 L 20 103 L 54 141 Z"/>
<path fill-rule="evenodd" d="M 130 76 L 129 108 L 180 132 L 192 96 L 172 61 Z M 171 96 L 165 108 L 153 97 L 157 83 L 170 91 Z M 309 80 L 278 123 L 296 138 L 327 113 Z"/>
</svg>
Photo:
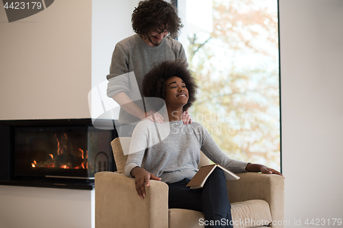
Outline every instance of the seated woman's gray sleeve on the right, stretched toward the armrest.
<svg viewBox="0 0 343 228">
<path fill-rule="evenodd" d="M 218 147 L 217 143 L 213 140 L 209 131 L 202 126 L 202 147 L 201 151 L 209 157 L 209 159 L 216 164 L 220 164 L 228 170 L 234 173 L 244 173 L 246 172 L 246 165 L 248 162 L 241 162 L 239 160 L 233 160 L 228 157 L 221 149 Z"/>
</svg>

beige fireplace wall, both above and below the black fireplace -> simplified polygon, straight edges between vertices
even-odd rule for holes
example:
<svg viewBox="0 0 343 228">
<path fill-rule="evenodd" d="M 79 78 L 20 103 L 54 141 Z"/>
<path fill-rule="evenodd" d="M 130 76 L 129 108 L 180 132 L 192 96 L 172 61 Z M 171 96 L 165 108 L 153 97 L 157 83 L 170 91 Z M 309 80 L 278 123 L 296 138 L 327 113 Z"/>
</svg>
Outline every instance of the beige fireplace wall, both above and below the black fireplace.
<svg viewBox="0 0 343 228">
<path fill-rule="evenodd" d="M 54 1 L 13 23 L 0 5 L 0 120 L 89 118 L 92 1 Z M 0 186 L 0 227 L 94 227 L 93 195 Z"/>
</svg>

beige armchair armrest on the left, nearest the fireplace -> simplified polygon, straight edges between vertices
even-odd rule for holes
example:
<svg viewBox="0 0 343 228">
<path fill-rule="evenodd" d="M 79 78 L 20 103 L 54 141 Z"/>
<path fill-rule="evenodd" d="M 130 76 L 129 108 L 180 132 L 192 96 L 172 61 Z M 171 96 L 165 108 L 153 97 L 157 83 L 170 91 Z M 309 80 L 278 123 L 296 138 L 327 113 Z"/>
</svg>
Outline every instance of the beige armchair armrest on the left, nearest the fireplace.
<svg viewBox="0 0 343 228">
<path fill-rule="evenodd" d="M 113 172 L 95 174 L 95 227 L 168 227 L 168 186 L 150 181 L 141 199 L 134 178 Z"/>
</svg>

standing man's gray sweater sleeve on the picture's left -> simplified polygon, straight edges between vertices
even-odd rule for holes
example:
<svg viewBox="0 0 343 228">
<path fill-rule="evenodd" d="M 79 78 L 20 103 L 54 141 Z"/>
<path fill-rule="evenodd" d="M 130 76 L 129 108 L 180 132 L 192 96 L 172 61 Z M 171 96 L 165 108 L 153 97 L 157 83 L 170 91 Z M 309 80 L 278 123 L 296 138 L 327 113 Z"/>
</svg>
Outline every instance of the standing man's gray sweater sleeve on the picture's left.
<svg viewBox="0 0 343 228">
<path fill-rule="evenodd" d="M 107 75 L 107 96 L 113 97 L 119 92 L 128 93 L 128 54 L 123 47 L 118 43 L 113 51 L 112 62 L 110 64 L 110 74 Z"/>
</svg>

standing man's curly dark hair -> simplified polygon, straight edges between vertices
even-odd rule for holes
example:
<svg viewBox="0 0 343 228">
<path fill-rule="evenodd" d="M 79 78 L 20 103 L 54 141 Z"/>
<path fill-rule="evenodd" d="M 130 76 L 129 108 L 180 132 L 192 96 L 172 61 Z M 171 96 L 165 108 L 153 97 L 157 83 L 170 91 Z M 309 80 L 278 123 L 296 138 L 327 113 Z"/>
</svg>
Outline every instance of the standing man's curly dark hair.
<svg viewBox="0 0 343 228">
<path fill-rule="evenodd" d="M 131 21 L 133 31 L 142 38 L 152 29 L 167 29 L 168 37 L 176 38 L 183 27 L 174 6 L 163 0 L 140 1 L 134 8 Z"/>
</svg>

